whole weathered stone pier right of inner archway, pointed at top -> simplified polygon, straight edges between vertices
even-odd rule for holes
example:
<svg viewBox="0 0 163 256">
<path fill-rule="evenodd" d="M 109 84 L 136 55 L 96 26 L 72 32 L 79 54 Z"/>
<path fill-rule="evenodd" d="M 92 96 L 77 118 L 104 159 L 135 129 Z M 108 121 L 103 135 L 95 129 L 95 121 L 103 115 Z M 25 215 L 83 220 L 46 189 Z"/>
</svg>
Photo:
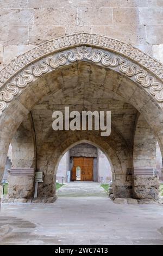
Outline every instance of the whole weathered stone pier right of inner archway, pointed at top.
<svg viewBox="0 0 163 256">
<path fill-rule="evenodd" d="M 156 170 L 156 139 L 143 115 L 137 120 L 133 152 L 133 197 L 158 199 L 159 177 Z"/>
</svg>

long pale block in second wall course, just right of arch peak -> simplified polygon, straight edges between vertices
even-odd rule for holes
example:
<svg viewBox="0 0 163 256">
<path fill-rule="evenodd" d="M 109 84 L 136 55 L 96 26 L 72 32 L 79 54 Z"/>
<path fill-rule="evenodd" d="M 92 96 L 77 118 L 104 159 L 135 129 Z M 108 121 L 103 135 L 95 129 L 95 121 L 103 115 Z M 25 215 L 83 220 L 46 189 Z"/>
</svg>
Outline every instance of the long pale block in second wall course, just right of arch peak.
<svg viewBox="0 0 163 256">
<path fill-rule="evenodd" d="M 111 8 L 79 8 L 78 9 L 79 25 L 110 25 L 112 24 Z"/>
</svg>

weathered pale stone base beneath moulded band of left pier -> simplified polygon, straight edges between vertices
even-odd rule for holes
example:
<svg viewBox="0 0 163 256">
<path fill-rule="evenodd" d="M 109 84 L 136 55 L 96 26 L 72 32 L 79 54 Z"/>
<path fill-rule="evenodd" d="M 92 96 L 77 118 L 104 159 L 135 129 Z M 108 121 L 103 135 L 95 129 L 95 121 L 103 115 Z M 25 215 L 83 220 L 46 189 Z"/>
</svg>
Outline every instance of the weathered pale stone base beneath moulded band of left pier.
<svg viewBox="0 0 163 256">
<path fill-rule="evenodd" d="M 31 198 L 34 192 L 34 178 L 30 176 L 8 176 L 8 197 Z"/>
</svg>

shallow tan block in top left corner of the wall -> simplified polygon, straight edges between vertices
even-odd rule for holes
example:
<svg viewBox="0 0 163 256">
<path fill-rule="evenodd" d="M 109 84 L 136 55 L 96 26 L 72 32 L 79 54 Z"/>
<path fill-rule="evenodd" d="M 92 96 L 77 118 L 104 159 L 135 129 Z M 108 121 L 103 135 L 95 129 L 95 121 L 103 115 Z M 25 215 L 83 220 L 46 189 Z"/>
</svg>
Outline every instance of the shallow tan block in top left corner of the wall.
<svg viewBox="0 0 163 256">
<path fill-rule="evenodd" d="M 0 9 L 3 8 L 26 8 L 27 0 L 0 0 Z"/>
</svg>

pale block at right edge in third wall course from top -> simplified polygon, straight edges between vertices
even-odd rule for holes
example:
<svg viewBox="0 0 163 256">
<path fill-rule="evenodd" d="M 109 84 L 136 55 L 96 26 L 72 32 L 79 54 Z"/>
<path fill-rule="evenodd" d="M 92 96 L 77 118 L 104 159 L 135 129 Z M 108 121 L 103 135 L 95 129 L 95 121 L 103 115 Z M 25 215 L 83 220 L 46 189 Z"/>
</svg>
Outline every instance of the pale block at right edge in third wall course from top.
<svg viewBox="0 0 163 256">
<path fill-rule="evenodd" d="M 146 26 L 147 31 L 147 43 L 151 45 L 162 44 L 163 29 L 162 25 L 158 26 Z"/>
</svg>

